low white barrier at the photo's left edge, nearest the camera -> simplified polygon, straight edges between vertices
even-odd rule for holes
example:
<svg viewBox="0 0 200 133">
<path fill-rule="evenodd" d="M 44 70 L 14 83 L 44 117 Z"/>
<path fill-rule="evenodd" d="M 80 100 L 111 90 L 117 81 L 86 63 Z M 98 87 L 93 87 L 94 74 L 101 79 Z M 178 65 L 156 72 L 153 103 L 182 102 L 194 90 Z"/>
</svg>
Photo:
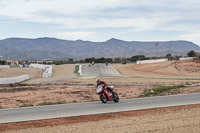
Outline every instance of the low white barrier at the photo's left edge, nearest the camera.
<svg viewBox="0 0 200 133">
<path fill-rule="evenodd" d="M 0 84 L 20 83 L 28 79 L 29 79 L 29 75 L 22 75 L 22 76 L 12 77 L 12 78 L 0 78 Z"/>
</svg>

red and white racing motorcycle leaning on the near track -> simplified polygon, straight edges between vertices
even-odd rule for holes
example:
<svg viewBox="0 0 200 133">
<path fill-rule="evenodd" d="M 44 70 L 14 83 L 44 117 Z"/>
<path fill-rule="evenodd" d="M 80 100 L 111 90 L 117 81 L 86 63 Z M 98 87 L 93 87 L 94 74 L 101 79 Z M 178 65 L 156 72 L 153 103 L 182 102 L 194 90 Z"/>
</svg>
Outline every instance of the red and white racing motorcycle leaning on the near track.
<svg viewBox="0 0 200 133">
<path fill-rule="evenodd" d="M 110 87 L 112 90 L 114 89 L 114 86 L 108 86 L 108 87 Z M 106 103 L 107 101 L 114 101 L 114 102 L 119 101 L 119 96 L 117 95 L 116 92 L 114 91 L 110 92 L 107 89 L 107 87 L 104 88 L 101 85 L 99 85 L 97 88 L 97 94 L 99 95 L 99 98 L 103 103 Z"/>
</svg>

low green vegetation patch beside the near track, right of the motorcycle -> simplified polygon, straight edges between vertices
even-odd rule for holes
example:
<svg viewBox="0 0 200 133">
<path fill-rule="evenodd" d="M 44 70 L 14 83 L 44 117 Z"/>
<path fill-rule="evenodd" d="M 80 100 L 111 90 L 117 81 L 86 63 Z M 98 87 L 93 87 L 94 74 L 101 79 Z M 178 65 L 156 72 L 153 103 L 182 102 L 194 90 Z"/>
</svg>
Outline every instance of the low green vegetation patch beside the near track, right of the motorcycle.
<svg viewBox="0 0 200 133">
<path fill-rule="evenodd" d="M 163 92 L 168 92 L 169 90 L 183 88 L 183 87 L 185 87 L 185 86 L 184 85 L 157 86 L 157 87 L 153 88 L 152 90 L 145 90 L 141 96 L 147 96 L 147 97 L 148 96 L 157 96 Z"/>
</svg>

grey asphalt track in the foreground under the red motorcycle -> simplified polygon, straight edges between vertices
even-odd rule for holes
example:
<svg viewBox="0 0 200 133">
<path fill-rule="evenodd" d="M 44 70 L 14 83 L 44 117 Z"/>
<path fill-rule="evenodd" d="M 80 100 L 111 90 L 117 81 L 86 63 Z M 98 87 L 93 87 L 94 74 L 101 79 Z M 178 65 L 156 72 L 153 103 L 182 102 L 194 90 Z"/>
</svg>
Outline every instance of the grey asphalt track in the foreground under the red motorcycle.
<svg viewBox="0 0 200 133">
<path fill-rule="evenodd" d="M 120 100 L 0 109 L 0 124 L 51 118 L 103 114 L 159 107 L 200 104 L 200 93 Z"/>
</svg>

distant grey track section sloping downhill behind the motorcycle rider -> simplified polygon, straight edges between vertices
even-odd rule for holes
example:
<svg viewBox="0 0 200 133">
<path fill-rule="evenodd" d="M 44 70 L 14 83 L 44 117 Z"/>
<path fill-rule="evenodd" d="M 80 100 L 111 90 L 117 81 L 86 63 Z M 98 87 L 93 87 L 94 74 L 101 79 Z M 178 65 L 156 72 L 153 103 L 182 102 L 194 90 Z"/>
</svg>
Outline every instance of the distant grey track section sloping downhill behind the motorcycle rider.
<svg viewBox="0 0 200 133">
<path fill-rule="evenodd" d="M 81 65 L 80 67 L 80 75 L 81 76 L 106 76 L 106 77 L 119 77 L 121 76 L 120 73 L 112 66 L 102 63 L 102 64 L 94 64 L 89 66 L 88 65 Z"/>
</svg>

